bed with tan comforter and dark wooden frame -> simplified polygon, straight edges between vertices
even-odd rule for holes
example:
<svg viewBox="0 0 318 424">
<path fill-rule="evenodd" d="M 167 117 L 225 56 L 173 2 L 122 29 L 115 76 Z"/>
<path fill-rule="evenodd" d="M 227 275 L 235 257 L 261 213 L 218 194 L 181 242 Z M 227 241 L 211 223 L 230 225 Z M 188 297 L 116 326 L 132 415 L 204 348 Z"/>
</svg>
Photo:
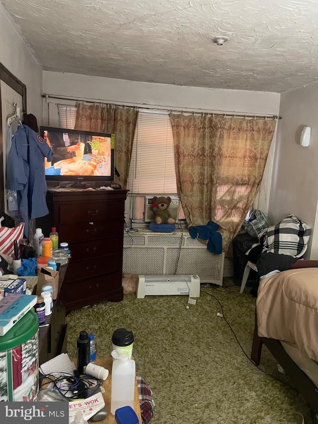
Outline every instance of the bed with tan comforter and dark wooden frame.
<svg viewBox="0 0 318 424">
<path fill-rule="evenodd" d="M 262 279 L 256 300 L 251 359 L 265 344 L 318 415 L 318 261 Z"/>
</svg>

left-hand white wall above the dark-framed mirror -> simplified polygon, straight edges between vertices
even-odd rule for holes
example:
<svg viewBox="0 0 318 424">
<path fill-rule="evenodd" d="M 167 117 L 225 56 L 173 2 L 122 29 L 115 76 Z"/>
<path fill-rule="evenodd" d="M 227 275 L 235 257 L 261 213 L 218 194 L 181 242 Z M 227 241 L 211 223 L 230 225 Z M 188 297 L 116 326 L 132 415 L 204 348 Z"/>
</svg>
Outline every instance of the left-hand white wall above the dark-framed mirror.
<svg viewBox="0 0 318 424">
<path fill-rule="evenodd" d="M 26 85 L 27 112 L 42 117 L 42 68 L 0 4 L 0 63 Z"/>
</svg>

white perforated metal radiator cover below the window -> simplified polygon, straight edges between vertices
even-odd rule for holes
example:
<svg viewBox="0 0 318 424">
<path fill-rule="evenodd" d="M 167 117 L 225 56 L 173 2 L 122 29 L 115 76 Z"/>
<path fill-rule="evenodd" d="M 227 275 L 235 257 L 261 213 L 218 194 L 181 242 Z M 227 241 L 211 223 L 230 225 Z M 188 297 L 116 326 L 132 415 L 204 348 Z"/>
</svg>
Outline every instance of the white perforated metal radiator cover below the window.
<svg viewBox="0 0 318 424">
<path fill-rule="evenodd" d="M 132 238 L 131 234 L 124 234 L 123 272 L 126 273 L 197 274 L 201 282 L 222 285 L 223 265 L 224 254 L 212 254 L 205 245 L 191 239 L 188 232 L 162 235 L 140 231 Z"/>
</svg>

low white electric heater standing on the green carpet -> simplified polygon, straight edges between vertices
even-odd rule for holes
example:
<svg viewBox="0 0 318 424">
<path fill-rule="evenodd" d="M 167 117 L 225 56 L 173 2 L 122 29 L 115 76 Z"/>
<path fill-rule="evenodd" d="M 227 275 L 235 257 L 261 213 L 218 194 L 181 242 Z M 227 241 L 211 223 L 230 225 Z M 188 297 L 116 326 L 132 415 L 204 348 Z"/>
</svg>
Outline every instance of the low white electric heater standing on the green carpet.
<svg viewBox="0 0 318 424">
<path fill-rule="evenodd" d="M 139 275 L 137 297 L 182 295 L 200 296 L 198 275 Z"/>
</svg>

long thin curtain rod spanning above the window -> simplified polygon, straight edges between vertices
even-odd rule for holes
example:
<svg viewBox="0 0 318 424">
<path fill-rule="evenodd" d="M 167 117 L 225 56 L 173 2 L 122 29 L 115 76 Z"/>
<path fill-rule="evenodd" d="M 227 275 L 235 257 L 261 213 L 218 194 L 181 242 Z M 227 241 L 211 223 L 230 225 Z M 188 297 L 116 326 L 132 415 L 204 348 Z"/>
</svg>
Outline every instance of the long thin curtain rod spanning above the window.
<svg viewBox="0 0 318 424">
<path fill-rule="evenodd" d="M 133 107 L 133 108 L 137 108 L 137 109 L 148 109 L 148 110 L 167 110 L 169 112 L 172 113 L 207 113 L 207 114 L 213 114 L 213 115 L 217 115 L 217 116 L 224 116 L 224 117 L 234 117 L 234 118 L 264 118 L 264 119 L 282 119 L 281 116 L 277 116 L 277 115 L 258 115 L 257 113 L 243 113 L 243 112 L 226 112 L 226 111 L 220 111 L 218 110 L 217 112 L 211 111 L 211 110 L 206 110 L 206 109 L 195 109 L 195 110 L 189 110 L 188 108 L 184 108 L 183 110 L 179 110 L 179 109 L 171 109 L 167 106 L 155 106 L 155 105 L 151 105 L 153 107 L 150 107 L 149 105 L 143 105 L 143 104 L 129 104 L 129 102 L 126 102 L 128 104 L 123 104 L 123 103 L 118 103 L 116 101 L 112 101 L 112 100 L 101 100 L 101 99 L 85 99 L 82 97 L 67 97 L 67 96 L 58 96 L 58 95 L 53 95 L 53 94 L 42 94 L 42 97 L 44 98 L 52 98 L 52 99 L 57 99 L 57 100 L 71 100 L 71 101 L 79 101 L 79 102 L 84 102 L 84 103 L 98 103 L 98 104 L 108 104 L 108 103 L 113 103 L 116 104 L 116 106 L 122 106 L 122 107 Z"/>
</svg>

